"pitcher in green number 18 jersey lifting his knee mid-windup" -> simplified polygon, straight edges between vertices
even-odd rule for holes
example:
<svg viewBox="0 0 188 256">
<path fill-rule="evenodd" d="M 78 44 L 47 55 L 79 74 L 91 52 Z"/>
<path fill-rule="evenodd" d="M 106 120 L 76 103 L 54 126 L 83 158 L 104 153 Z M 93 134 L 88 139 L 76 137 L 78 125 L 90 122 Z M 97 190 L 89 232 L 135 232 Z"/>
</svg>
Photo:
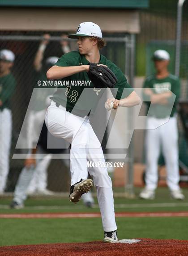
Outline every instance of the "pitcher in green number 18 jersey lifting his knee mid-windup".
<svg viewBox="0 0 188 256">
<path fill-rule="evenodd" d="M 107 60 L 99 49 L 104 46 L 102 32 L 100 27 L 93 22 L 82 22 L 77 29 L 77 33 L 68 35 L 70 38 L 77 38 L 79 52 L 73 51 L 64 54 L 55 66 L 47 72 L 49 79 L 64 79 L 67 83 L 71 81 L 83 82 L 83 86 L 67 86 L 67 90 L 57 89 L 56 93 L 51 98 L 53 101 L 47 110 L 46 124 L 52 135 L 58 138 L 64 138 L 71 143 L 70 162 L 71 162 L 71 193 L 70 201 L 79 201 L 82 193 L 86 193 L 91 186 L 91 180 L 87 180 L 87 173 L 94 180 L 97 189 L 98 204 L 101 211 L 104 242 L 117 241 L 114 201 L 112 193 L 111 179 L 108 176 L 106 167 L 87 168 L 87 160 L 92 162 L 105 162 L 101 144 L 92 129 L 89 121 L 89 115 L 94 114 L 92 104 L 96 105 L 96 99 L 100 99 L 102 90 L 96 89 L 90 81 L 87 72 L 89 71 L 89 63 L 98 63 L 98 65 L 107 65 L 117 76 L 118 82 L 115 85 L 118 88 L 114 108 L 118 106 L 131 107 L 140 103 L 140 98 L 128 85 L 124 74 L 114 63 Z M 89 95 L 79 108 L 76 103 L 84 90 L 90 87 L 92 95 Z M 127 97 L 122 97 L 124 88 L 128 88 Z M 93 89 L 93 90 L 92 90 Z M 87 89 L 86 89 L 87 90 Z M 101 91 L 101 93 L 100 93 Z M 86 101 L 89 101 L 90 107 L 86 106 Z M 90 113 L 89 113 L 90 112 Z"/>
</svg>

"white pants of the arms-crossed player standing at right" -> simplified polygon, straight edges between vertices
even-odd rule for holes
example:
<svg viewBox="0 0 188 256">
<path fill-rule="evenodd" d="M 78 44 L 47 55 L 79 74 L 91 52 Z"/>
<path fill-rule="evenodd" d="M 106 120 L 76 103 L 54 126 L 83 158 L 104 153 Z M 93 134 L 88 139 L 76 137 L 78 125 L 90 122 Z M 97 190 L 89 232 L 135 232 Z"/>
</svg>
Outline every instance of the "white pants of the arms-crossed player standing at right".
<svg viewBox="0 0 188 256">
<path fill-rule="evenodd" d="M 158 119 L 147 117 L 146 123 L 146 187 L 156 189 L 158 184 L 158 157 L 160 149 L 167 169 L 167 185 L 170 190 L 179 189 L 178 128 L 176 117 Z M 161 123 L 165 122 L 163 125 Z M 159 126 L 161 125 L 161 126 Z M 152 127 L 158 128 L 154 130 Z"/>
</svg>

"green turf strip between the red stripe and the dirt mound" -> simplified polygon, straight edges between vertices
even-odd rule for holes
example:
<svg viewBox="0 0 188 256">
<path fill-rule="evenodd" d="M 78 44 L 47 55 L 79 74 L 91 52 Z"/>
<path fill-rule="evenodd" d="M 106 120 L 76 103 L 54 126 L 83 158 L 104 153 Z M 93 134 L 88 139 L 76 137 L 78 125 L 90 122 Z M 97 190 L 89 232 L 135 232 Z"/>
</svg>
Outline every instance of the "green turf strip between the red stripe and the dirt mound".
<svg viewBox="0 0 188 256">
<path fill-rule="evenodd" d="M 184 217 L 117 218 L 117 225 L 120 239 L 188 239 L 188 220 Z M 0 228 L 1 246 L 89 242 L 103 239 L 100 218 L 4 219 L 1 220 Z"/>
</svg>

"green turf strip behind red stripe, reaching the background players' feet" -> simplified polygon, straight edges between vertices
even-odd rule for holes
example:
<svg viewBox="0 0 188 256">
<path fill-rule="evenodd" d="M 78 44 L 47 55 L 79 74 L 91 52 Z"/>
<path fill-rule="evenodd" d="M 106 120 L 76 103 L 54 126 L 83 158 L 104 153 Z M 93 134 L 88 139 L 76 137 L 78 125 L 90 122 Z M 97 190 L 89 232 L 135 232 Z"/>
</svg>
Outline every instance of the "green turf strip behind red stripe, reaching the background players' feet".
<svg viewBox="0 0 188 256">
<path fill-rule="evenodd" d="M 117 189 L 116 189 L 117 190 Z M 116 192 L 122 192 L 122 188 L 118 189 Z M 156 198 L 154 200 L 141 200 L 138 198 L 138 193 L 140 189 L 136 188 L 136 198 L 115 198 L 115 211 L 129 211 L 129 212 L 139 212 L 139 211 L 186 211 L 188 206 L 184 205 L 188 202 L 188 189 L 183 189 L 185 195 L 184 201 L 177 201 L 169 197 L 169 191 L 167 188 L 158 188 L 156 193 Z M 95 199 L 96 208 L 88 209 L 82 202 L 77 204 L 70 203 L 68 198 L 29 198 L 25 202 L 26 208 L 20 210 L 13 209 L 0 209 L 0 213 L 41 213 L 41 212 L 99 212 L 97 205 L 97 199 Z M 9 207 L 12 198 L 1 198 L 0 205 Z M 123 204 L 123 205 L 122 205 Z M 162 204 L 162 207 L 158 207 L 156 204 Z M 175 204 L 174 206 L 169 206 L 169 204 Z M 135 206 L 136 205 L 136 206 Z M 43 206 L 43 209 L 36 209 L 36 207 Z M 52 207 L 52 208 L 51 208 Z"/>
</svg>

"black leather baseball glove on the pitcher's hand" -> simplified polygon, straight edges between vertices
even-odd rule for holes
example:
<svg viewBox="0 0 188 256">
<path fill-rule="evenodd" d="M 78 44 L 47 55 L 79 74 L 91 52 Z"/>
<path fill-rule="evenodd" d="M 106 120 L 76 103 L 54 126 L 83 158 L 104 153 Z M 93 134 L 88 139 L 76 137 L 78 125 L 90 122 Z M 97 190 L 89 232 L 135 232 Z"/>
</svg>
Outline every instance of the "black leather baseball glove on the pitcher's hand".
<svg viewBox="0 0 188 256">
<path fill-rule="evenodd" d="M 108 67 L 96 63 L 90 63 L 88 76 L 96 88 L 114 88 L 117 83 L 117 77 Z"/>
</svg>

